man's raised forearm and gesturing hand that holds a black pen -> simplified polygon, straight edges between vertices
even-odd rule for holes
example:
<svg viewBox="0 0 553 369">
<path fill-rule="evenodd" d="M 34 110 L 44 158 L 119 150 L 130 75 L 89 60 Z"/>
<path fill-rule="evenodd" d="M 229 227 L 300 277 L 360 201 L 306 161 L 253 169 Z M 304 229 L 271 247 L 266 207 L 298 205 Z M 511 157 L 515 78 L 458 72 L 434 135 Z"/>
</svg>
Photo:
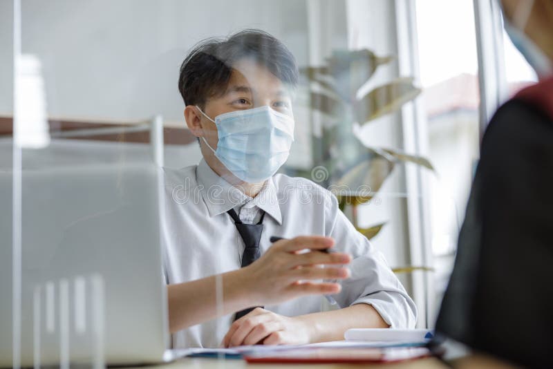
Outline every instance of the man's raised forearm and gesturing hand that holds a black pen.
<svg viewBox="0 0 553 369">
<path fill-rule="evenodd" d="M 348 254 L 335 252 L 303 252 L 303 249 L 328 249 L 334 240 L 321 236 L 299 236 L 279 240 L 251 265 L 221 274 L 223 306 L 217 307 L 216 276 L 169 285 L 169 330 L 177 332 L 256 305 L 276 305 L 312 294 L 339 292 L 337 283 L 313 282 L 325 279 L 344 279 L 351 261 Z M 333 265 L 320 268 L 312 265 Z M 336 265 L 342 265 L 337 267 Z M 298 267 L 302 267 L 301 270 Z M 310 281 L 298 283 L 299 281 Z"/>
</svg>

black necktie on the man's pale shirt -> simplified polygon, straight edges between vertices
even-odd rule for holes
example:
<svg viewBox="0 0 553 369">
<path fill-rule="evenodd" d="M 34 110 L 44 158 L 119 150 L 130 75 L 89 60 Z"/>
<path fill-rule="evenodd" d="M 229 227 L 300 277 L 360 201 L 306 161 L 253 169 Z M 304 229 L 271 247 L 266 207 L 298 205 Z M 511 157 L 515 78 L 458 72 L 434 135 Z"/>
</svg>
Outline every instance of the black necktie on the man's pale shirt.
<svg viewBox="0 0 553 369">
<path fill-rule="evenodd" d="M 230 209 L 227 213 L 234 219 L 234 225 L 238 229 L 238 233 L 244 241 L 244 254 L 242 254 L 242 267 L 247 267 L 254 261 L 256 261 L 259 256 L 261 256 L 261 251 L 259 250 L 259 240 L 261 240 L 261 231 L 263 231 L 263 218 L 265 217 L 265 212 L 261 216 L 261 219 L 257 224 L 245 224 L 242 223 L 236 211 Z M 240 319 L 245 314 L 251 312 L 255 308 L 247 308 L 236 312 L 234 320 Z"/>
</svg>

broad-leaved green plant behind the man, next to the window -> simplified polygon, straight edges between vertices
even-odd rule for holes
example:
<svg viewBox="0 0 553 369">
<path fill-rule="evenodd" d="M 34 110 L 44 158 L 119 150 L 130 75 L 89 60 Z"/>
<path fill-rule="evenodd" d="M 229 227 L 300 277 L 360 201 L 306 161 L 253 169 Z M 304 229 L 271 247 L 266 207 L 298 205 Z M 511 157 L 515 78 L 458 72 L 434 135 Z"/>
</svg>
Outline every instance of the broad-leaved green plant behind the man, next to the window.
<svg viewBox="0 0 553 369">
<path fill-rule="evenodd" d="M 355 134 L 354 126 L 370 124 L 378 117 L 399 111 L 421 90 L 413 78 L 399 77 L 362 93 L 379 66 L 393 57 L 378 57 L 371 50 L 335 50 L 322 66 L 301 68 L 309 82 L 311 108 L 329 117 L 330 124 L 313 136 L 315 165 L 310 171 L 296 171 L 319 182 L 338 198 L 340 209 L 351 207 L 353 225 L 368 239 L 375 237 L 385 223 L 361 228 L 357 207 L 371 201 L 397 164 L 412 162 L 433 171 L 432 164 L 419 155 L 388 147 L 368 146 Z M 402 267 L 411 272 L 427 267 Z"/>
</svg>

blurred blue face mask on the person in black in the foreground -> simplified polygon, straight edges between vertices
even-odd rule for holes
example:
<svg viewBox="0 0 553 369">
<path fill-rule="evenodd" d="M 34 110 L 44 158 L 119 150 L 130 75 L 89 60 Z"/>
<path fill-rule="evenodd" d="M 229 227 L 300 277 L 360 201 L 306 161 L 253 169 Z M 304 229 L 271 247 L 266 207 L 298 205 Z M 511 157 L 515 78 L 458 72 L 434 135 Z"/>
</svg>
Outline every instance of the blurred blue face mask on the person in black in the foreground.
<svg viewBox="0 0 553 369">
<path fill-rule="evenodd" d="M 509 39 L 513 42 L 514 47 L 521 52 L 526 61 L 528 61 L 528 64 L 536 71 L 537 75 L 539 77 L 547 77 L 553 74 L 552 61 L 536 44 L 534 44 L 534 41 L 523 32 L 533 6 L 533 1 L 526 1 L 519 4 L 516 9 L 516 14 L 514 15 L 514 17 L 517 17 L 514 23 L 509 21 L 507 17 L 503 17 L 505 32 L 509 35 Z"/>
</svg>

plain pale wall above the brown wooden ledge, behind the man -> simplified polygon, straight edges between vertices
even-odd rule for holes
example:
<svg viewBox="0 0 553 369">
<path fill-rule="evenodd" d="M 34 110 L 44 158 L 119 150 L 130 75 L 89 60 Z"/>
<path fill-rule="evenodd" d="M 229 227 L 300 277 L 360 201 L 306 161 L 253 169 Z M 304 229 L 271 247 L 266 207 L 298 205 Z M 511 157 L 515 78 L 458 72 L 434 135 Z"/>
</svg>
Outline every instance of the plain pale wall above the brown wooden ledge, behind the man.
<svg viewBox="0 0 553 369">
<path fill-rule="evenodd" d="M 179 124 L 178 68 L 191 46 L 257 27 L 282 39 L 301 63 L 305 19 L 305 4 L 295 0 L 24 0 L 22 53 L 42 62 L 50 116 L 134 121 L 160 113 Z M 10 38 L 0 41 L 0 50 L 11 48 Z M 3 86 L 11 77 L 0 78 Z M 2 99 L 0 113 L 11 111 Z"/>
</svg>

